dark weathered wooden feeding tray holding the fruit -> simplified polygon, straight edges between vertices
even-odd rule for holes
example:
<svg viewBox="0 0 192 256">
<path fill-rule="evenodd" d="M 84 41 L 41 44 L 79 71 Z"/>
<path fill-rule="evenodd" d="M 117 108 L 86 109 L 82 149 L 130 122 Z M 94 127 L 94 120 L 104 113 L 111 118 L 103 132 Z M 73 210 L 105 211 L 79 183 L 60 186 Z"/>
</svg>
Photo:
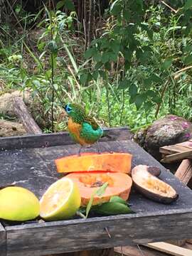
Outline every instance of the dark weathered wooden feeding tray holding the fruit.
<svg viewBox="0 0 192 256">
<path fill-rule="evenodd" d="M 129 152 L 133 154 L 132 166 L 159 166 L 160 178 L 176 188 L 178 201 L 170 205 L 155 203 L 133 188 L 129 203 L 134 214 L 47 223 L 35 221 L 22 225 L 1 221 L 1 256 L 50 255 L 192 237 L 192 191 L 132 142 L 127 129 L 110 129 L 108 132 L 113 139 L 100 142 L 102 151 Z M 2 138 L 0 149 L 0 186 L 14 183 L 41 197 L 60 177 L 53 160 L 77 153 L 79 146 L 73 144 L 68 133 L 63 133 Z"/>
</svg>

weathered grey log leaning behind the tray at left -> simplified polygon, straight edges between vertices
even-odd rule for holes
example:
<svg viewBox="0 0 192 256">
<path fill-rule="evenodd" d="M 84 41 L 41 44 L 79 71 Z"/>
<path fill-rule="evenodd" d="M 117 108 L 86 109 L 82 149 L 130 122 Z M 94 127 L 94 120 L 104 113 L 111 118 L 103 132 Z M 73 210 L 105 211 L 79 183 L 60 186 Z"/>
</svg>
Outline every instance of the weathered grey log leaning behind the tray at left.
<svg viewBox="0 0 192 256">
<path fill-rule="evenodd" d="M 26 132 L 29 134 L 42 133 L 41 129 L 38 127 L 33 117 L 28 112 L 28 109 L 21 97 L 15 97 L 14 99 L 14 112 L 16 113 L 18 119 L 22 122 Z"/>
</svg>

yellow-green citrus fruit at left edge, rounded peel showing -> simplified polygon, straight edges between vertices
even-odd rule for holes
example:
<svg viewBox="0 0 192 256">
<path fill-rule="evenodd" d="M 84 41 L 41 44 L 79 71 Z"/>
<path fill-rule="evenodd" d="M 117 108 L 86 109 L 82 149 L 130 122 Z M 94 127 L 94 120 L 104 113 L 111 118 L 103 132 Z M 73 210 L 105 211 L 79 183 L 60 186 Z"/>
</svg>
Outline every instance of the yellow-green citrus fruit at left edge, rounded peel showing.
<svg viewBox="0 0 192 256">
<path fill-rule="evenodd" d="M 9 186 L 0 191 L 0 218 L 4 220 L 33 220 L 39 215 L 38 198 L 28 189 Z"/>
</svg>

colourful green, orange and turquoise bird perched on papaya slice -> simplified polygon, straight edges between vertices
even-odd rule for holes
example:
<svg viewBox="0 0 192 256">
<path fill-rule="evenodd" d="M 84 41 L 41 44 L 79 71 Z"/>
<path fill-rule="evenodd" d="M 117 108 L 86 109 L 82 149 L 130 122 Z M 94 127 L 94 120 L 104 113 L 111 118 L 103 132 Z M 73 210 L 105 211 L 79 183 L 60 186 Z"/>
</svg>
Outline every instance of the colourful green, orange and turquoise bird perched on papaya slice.
<svg viewBox="0 0 192 256">
<path fill-rule="evenodd" d="M 65 105 L 65 111 L 68 114 L 68 131 L 75 142 L 82 146 L 91 145 L 97 142 L 103 135 L 103 130 L 97 124 L 95 119 L 87 116 L 85 109 L 74 103 Z M 98 151 L 100 152 L 99 145 Z M 80 154 L 80 151 L 79 151 Z"/>
</svg>

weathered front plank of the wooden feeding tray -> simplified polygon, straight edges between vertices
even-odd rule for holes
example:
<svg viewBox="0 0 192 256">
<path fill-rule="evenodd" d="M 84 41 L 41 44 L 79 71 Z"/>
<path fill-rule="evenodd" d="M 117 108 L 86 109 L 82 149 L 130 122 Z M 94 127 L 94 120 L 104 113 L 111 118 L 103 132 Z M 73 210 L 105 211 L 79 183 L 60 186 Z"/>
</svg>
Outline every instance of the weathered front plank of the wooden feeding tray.
<svg viewBox="0 0 192 256">
<path fill-rule="evenodd" d="M 7 256 L 39 256 L 190 238 L 191 212 L 192 209 L 170 210 L 166 215 L 140 213 L 10 226 L 6 227 Z"/>
</svg>

